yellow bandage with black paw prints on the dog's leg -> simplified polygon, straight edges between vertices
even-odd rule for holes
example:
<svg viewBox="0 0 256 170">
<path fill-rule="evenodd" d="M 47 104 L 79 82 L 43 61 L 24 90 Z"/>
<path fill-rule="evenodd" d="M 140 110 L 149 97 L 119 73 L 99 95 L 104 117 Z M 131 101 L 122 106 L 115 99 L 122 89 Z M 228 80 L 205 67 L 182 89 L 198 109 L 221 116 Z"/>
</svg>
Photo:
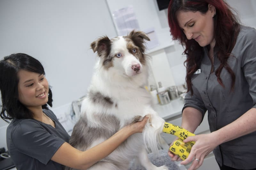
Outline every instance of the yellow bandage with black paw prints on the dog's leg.
<svg viewBox="0 0 256 170">
<path fill-rule="evenodd" d="M 179 139 L 176 140 L 170 147 L 170 151 L 178 155 L 182 160 L 188 158 L 190 150 L 195 142 L 191 141 L 184 143 L 183 140 L 186 139 L 188 136 L 194 136 L 195 134 L 189 132 L 184 128 L 181 128 L 180 126 L 176 126 L 167 122 L 164 123 L 163 132 L 179 137 Z"/>
</svg>

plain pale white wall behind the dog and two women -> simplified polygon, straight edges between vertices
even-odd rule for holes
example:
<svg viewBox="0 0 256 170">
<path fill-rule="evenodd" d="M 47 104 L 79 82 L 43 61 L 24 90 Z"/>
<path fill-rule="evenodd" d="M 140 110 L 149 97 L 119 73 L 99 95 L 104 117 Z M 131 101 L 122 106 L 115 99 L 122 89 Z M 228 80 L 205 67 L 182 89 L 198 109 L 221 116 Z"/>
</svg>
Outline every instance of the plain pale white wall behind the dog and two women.
<svg viewBox="0 0 256 170">
<path fill-rule="evenodd" d="M 244 24 L 256 26 L 255 0 L 228 3 Z M 168 28 L 167 10 L 157 15 L 161 27 Z M 102 35 L 117 35 L 105 0 L 0 0 L 0 59 L 18 52 L 39 59 L 52 86 L 54 108 L 85 94 L 96 58 L 90 43 Z M 164 50 L 176 84 L 184 83 L 182 47 L 176 43 Z M 6 126 L 0 120 L 0 147 L 6 147 Z"/>
</svg>

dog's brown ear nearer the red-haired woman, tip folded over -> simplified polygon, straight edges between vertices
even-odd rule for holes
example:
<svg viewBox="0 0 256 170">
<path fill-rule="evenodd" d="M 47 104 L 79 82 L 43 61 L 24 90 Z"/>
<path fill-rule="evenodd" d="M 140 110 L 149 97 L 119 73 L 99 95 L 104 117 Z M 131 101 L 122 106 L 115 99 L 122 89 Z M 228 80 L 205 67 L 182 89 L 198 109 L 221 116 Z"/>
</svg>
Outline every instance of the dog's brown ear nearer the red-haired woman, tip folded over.
<svg viewBox="0 0 256 170">
<path fill-rule="evenodd" d="M 130 39 L 132 39 L 133 43 L 140 47 L 140 50 L 142 50 L 142 52 L 145 51 L 146 47 L 144 45 L 145 41 L 144 40 L 147 40 L 147 41 L 150 41 L 148 35 L 142 31 L 135 31 L 135 30 L 132 30 L 130 32 L 130 34 L 128 35 L 128 37 Z"/>
</svg>

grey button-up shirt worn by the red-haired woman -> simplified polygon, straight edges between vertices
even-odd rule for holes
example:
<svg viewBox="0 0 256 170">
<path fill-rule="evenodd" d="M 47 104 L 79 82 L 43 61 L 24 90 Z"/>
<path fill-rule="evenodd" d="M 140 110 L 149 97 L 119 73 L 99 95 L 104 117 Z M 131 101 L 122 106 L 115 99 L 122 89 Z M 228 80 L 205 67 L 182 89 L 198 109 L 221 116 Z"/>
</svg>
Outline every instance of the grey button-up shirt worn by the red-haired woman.
<svg viewBox="0 0 256 170">
<path fill-rule="evenodd" d="M 236 75 L 234 92 L 230 92 L 231 76 L 223 68 L 220 77 L 225 88 L 217 81 L 215 70 L 220 66 L 214 49 L 214 71 L 204 47 L 201 73 L 192 77 L 193 96 L 188 92 L 183 107 L 208 111 L 210 131 L 216 131 L 233 122 L 251 108 L 256 108 L 256 30 L 240 26 L 236 45 L 228 58 L 228 65 Z M 255 120 L 256 121 L 256 120 Z M 244 126 L 249 126 L 244 124 Z M 240 127 L 237 127 L 237 129 Z M 213 150 L 217 162 L 236 169 L 256 168 L 256 132 L 220 144 Z"/>
</svg>

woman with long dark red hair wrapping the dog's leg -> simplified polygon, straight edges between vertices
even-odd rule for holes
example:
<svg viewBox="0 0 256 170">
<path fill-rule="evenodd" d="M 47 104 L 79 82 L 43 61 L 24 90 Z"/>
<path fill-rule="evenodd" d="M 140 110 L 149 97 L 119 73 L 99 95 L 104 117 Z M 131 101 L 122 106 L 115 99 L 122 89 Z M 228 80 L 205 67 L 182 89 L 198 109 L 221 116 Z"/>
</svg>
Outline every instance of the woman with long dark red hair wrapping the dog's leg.
<svg viewBox="0 0 256 170">
<path fill-rule="evenodd" d="M 211 131 L 184 140 L 196 141 L 181 162 L 193 161 L 189 169 L 211 151 L 220 169 L 256 168 L 256 30 L 234 12 L 223 0 L 171 0 L 168 7 L 172 38 L 187 55 L 181 126 L 194 132 L 208 111 Z"/>
</svg>

